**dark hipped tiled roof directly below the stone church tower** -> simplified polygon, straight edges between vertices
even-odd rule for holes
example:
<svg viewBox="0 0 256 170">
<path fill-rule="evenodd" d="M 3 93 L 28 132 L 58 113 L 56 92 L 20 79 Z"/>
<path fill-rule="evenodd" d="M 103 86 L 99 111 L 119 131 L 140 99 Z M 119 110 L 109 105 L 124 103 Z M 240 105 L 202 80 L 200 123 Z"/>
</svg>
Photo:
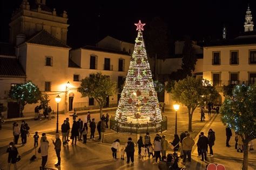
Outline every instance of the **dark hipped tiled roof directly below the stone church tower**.
<svg viewBox="0 0 256 170">
<path fill-rule="evenodd" d="M 27 43 L 31 43 L 31 44 L 41 44 L 41 45 L 48 45 L 48 46 L 57 46 L 57 47 L 63 47 L 63 48 L 70 49 L 70 47 L 68 45 L 66 45 L 65 43 L 61 42 L 56 37 L 53 37 L 50 33 L 48 33 L 45 30 L 42 30 L 42 31 L 38 32 L 35 36 L 30 38 L 26 42 Z"/>
</svg>

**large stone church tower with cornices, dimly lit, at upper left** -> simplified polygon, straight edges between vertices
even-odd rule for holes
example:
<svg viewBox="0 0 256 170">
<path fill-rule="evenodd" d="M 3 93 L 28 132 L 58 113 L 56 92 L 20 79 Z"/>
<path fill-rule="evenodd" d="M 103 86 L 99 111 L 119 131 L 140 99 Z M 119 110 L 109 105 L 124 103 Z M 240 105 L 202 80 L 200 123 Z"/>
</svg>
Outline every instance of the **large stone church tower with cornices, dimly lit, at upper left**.
<svg viewBox="0 0 256 170">
<path fill-rule="evenodd" d="M 35 33 L 45 30 L 66 44 L 69 26 L 66 11 L 57 15 L 55 8 L 51 9 L 46 5 L 46 0 L 34 1 L 29 4 L 28 0 L 23 0 L 19 8 L 12 13 L 9 42 L 17 45 L 17 37 L 23 36 L 28 39 Z"/>
</svg>

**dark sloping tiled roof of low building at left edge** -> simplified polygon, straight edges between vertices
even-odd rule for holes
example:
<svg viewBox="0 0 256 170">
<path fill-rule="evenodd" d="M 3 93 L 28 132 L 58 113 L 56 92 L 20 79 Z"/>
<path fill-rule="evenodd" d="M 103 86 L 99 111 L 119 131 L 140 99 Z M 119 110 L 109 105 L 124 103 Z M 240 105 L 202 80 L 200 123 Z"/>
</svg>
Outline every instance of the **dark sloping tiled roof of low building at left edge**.
<svg viewBox="0 0 256 170">
<path fill-rule="evenodd" d="M 26 76 L 16 58 L 0 57 L 0 76 Z"/>
</svg>

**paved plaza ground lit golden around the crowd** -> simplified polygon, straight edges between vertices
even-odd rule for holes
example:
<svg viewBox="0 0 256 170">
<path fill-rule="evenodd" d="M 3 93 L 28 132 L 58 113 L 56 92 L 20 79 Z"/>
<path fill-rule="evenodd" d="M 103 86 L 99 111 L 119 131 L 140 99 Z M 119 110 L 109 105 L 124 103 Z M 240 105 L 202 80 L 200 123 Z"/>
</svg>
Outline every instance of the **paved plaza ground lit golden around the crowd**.
<svg viewBox="0 0 256 170">
<path fill-rule="evenodd" d="M 114 116 L 114 112 L 109 112 L 110 116 Z M 166 135 L 167 140 L 172 141 L 175 127 L 175 112 L 165 112 L 164 115 L 168 118 L 168 130 L 163 132 Z M 63 120 L 69 117 L 69 114 L 59 115 L 59 126 L 63 123 Z M 72 117 L 69 117 L 70 121 Z M 86 120 L 86 114 L 79 114 L 78 118 L 83 121 Z M 96 122 L 99 120 L 99 114 L 91 114 L 91 118 L 96 118 Z M 56 119 L 52 120 L 27 120 L 30 126 L 31 137 L 28 138 L 28 144 L 25 146 L 17 145 L 19 154 L 22 156 L 22 160 L 17 163 L 18 169 L 38 169 L 41 165 L 41 155 L 37 153 L 38 159 L 36 161 L 30 162 L 30 158 L 35 154 L 35 149 L 33 148 L 33 138 L 32 135 L 35 131 L 38 131 L 41 135 L 46 132 L 48 140 L 50 141 L 49 154 L 47 167 L 54 167 L 57 162 L 56 154 L 54 151 L 54 146 L 51 139 L 54 139 L 54 134 L 56 131 Z M 21 121 L 18 121 L 19 125 Z M 72 123 L 71 123 L 72 124 Z M 181 131 L 187 130 L 188 115 L 186 113 L 186 108 L 181 108 L 178 112 L 178 134 Z M 206 115 L 206 121 L 200 121 L 199 110 L 193 115 L 193 132 L 192 137 L 195 138 L 197 142 L 197 134 L 201 131 L 207 134 L 208 129 L 212 128 L 215 131 L 216 140 L 213 147 L 214 157 L 208 158 L 208 162 L 200 161 L 197 157 L 197 147 L 193 147 L 192 151 L 192 162 L 185 165 L 186 169 L 205 169 L 206 164 L 213 162 L 215 164 L 223 164 L 226 169 L 241 169 L 242 153 L 238 153 L 234 149 L 234 136 L 230 140 L 232 147 L 225 147 L 226 135 L 225 126 L 220 121 L 219 114 L 212 114 L 211 117 Z M 5 123 L 2 130 L 0 131 L 0 168 L 6 169 L 7 167 L 7 157 L 6 148 L 9 142 L 12 141 L 12 123 Z M 90 134 L 90 132 L 89 132 Z M 96 134 L 98 134 L 96 132 Z M 143 134 L 144 135 L 144 134 Z M 105 143 L 99 144 L 97 141 L 88 141 L 87 144 L 83 144 L 78 141 L 77 145 L 72 146 L 71 142 L 66 147 L 62 146 L 61 151 L 61 166 L 58 169 L 158 169 L 158 164 L 154 164 L 154 159 L 140 158 L 138 157 L 138 150 L 136 147 L 136 152 L 134 156 L 134 164 L 126 164 L 126 160 L 121 161 L 118 159 L 114 161 L 111 154 L 111 142 L 115 139 L 120 139 L 121 144 L 127 141 L 128 137 L 132 137 L 133 141 L 137 141 L 137 135 L 130 134 L 120 134 L 115 133 L 111 130 L 106 131 Z M 151 135 L 154 138 L 154 134 Z M 96 137 L 97 139 L 97 137 Z M 21 139 L 19 139 L 21 143 Z M 254 141 L 254 144 L 256 141 Z M 171 153 L 171 151 L 169 151 Z M 118 153 L 118 157 L 120 155 Z M 249 153 L 249 169 L 256 169 L 256 152 Z M 181 166 L 181 164 L 179 164 Z"/>
</svg>

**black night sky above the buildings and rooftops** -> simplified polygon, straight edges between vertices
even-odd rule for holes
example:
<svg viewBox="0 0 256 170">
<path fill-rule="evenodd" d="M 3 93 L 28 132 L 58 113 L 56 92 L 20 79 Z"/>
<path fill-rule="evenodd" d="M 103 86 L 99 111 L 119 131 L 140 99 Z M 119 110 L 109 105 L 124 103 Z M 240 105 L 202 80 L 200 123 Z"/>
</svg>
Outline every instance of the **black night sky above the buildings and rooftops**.
<svg viewBox="0 0 256 170">
<path fill-rule="evenodd" d="M 21 2 L 22 0 L 1 0 L 1 42 L 8 41 L 11 13 Z M 63 10 L 68 12 L 68 44 L 72 47 L 93 45 L 107 35 L 134 42 L 137 36 L 134 23 L 140 19 L 146 23 L 144 28 L 147 29 L 153 17 L 161 17 L 167 23 L 170 40 L 179 40 L 184 35 L 190 35 L 195 40 L 209 37 L 220 39 L 224 24 L 227 28 L 227 38 L 232 38 L 244 31 L 247 3 L 245 0 L 170 0 L 139 3 L 132 0 L 46 0 L 46 5 L 56 8 L 57 13 Z M 253 21 L 256 22 L 255 1 L 250 2 L 250 8 Z"/>
</svg>

